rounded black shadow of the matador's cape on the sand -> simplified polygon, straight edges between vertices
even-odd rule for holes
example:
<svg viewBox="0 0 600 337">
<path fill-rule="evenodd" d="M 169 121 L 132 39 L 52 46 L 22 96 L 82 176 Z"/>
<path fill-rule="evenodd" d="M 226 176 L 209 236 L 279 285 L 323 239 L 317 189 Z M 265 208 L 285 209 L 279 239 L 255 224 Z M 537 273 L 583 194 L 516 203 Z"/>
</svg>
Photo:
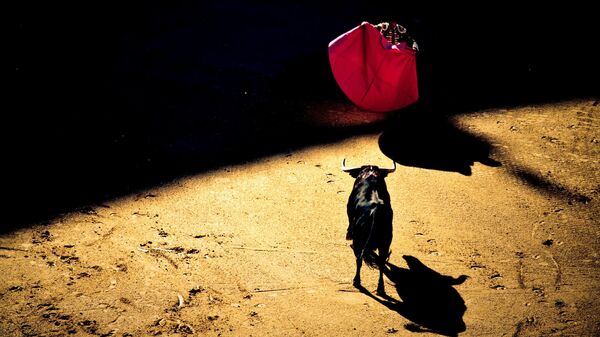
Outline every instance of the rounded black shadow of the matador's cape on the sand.
<svg viewBox="0 0 600 337">
<path fill-rule="evenodd" d="M 471 166 L 501 164 L 489 157 L 491 145 L 453 125 L 439 108 L 416 104 L 398 111 L 379 137 L 379 147 L 401 165 L 471 175 Z"/>
</svg>

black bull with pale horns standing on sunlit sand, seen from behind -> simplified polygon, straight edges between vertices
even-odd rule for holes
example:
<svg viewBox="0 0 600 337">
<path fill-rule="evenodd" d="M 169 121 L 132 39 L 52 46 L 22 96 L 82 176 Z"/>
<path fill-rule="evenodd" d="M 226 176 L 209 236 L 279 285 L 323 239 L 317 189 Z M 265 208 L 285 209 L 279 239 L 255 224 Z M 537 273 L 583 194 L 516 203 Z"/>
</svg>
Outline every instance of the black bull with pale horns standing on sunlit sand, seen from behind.
<svg viewBox="0 0 600 337">
<path fill-rule="evenodd" d="M 357 288 L 361 287 L 360 268 L 364 261 L 371 267 L 379 268 L 378 294 L 385 294 L 383 269 L 390 256 L 393 229 L 393 211 L 385 177 L 395 169 L 396 163 L 393 168 L 384 169 L 373 165 L 348 168 L 345 166 L 345 160 L 342 162 L 342 170 L 356 178 L 348 198 L 349 224 L 346 234 L 346 239 L 352 240 L 352 249 L 356 257 L 353 284 Z"/>
</svg>

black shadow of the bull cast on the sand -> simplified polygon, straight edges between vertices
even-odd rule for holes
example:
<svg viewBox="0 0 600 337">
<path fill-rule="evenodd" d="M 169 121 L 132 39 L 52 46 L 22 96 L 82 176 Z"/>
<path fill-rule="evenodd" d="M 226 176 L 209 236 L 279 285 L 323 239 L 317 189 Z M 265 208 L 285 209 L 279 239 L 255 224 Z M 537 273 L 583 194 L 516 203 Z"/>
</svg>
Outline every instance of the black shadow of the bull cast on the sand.
<svg viewBox="0 0 600 337">
<path fill-rule="evenodd" d="M 392 281 L 401 301 L 391 296 L 379 298 L 365 288 L 361 292 L 394 310 L 412 323 L 405 328 L 413 332 L 433 332 L 458 336 L 466 330 L 464 300 L 452 286 L 462 284 L 467 276 L 442 275 L 413 256 L 403 256 L 408 269 L 387 264 L 384 274 Z"/>
</svg>

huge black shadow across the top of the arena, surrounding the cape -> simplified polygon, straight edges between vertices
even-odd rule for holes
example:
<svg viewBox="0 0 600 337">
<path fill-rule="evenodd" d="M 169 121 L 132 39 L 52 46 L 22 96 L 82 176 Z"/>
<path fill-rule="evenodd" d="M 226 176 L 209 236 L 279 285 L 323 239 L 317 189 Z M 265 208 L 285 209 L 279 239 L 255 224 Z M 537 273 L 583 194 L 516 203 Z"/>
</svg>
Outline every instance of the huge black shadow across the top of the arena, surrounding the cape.
<svg viewBox="0 0 600 337">
<path fill-rule="evenodd" d="M 435 103 L 432 114 L 589 95 L 598 73 L 588 42 L 593 11 L 585 9 L 565 21 L 562 8 L 436 10 L 442 15 L 360 1 L 18 7 L 15 93 L 0 139 L 8 200 L 1 231 L 184 175 L 381 130 L 315 126 L 306 116 L 309 105 L 347 102 L 327 44 L 363 20 L 397 20 L 419 41 L 421 98 Z M 409 140 L 388 133 L 387 151 L 406 157 L 393 152 Z"/>
</svg>

